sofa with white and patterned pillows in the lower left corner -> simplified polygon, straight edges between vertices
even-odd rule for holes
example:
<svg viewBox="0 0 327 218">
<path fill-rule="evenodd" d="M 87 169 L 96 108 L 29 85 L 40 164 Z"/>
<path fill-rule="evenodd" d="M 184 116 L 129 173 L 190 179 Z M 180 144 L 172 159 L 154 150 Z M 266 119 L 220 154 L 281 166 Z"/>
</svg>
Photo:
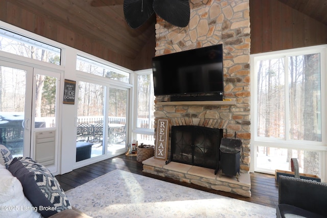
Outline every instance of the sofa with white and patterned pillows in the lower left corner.
<svg viewBox="0 0 327 218">
<path fill-rule="evenodd" d="M 73 207 L 57 179 L 28 157 L 0 144 L 0 217 L 90 217 Z"/>
</svg>

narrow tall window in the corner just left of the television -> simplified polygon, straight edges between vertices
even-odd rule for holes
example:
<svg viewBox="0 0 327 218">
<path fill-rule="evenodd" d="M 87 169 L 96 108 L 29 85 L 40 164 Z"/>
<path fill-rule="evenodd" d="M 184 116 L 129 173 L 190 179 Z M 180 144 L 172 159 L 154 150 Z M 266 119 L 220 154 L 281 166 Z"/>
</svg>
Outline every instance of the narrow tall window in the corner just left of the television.
<svg viewBox="0 0 327 218">
<path fill-rule="evenodd" d="M 136 72 L 136 140 L 154 144 L 154 91 L 152 70 Z"/>
</svg>

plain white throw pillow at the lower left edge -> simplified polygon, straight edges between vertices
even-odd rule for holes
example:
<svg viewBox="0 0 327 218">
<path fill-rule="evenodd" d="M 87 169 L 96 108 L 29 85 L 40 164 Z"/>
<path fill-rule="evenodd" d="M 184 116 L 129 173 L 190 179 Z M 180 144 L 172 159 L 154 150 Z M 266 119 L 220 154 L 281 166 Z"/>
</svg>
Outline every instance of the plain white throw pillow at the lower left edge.
<svg viewBox="0 0 327 218">
<path fill-rule="evenodd" d="M 5 166 L 0 165 L 0 216 L 6 218 L 41 218 L 22 191 L 20 182 Z"/>
</svg>

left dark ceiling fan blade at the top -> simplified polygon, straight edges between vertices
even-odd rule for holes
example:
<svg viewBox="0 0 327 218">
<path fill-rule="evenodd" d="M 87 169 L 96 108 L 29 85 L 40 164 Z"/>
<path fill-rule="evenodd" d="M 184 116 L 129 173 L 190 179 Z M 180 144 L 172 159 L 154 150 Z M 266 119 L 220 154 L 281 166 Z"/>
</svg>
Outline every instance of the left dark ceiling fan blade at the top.
<svg viewBox="0 0 327 218">
<path fill-rule="evenodd" d="M 154 13 L 153 0 L 124 0 L 124 16 L 127 24 L 135 29 L 143 25 Z"/>
</svg>

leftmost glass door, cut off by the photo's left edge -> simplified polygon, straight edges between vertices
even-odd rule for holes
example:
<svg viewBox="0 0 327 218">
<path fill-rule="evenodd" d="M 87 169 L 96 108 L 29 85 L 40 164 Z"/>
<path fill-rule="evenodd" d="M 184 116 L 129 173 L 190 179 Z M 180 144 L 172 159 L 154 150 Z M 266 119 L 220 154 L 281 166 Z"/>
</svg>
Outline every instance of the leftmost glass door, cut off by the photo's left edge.
<svg viewBox="0 0 327 218">
<path fill-rule="evenodd" d="M 0 143 L 13 157 L 31 155 L 32 75 L 32 67 L 0 61 Z"/>
</svg>

